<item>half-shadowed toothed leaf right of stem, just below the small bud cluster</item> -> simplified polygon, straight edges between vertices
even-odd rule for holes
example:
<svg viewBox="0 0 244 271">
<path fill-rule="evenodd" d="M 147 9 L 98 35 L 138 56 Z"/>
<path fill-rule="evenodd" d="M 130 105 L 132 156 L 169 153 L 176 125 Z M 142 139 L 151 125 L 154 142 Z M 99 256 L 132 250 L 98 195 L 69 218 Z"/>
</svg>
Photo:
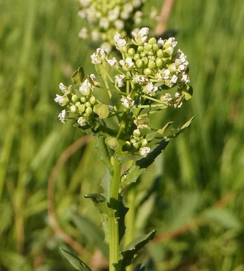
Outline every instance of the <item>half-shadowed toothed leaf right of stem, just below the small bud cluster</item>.
<svg viewBox="0 0 244 271">
<path fill-rule="evenodd" d="M 158 146 L 156 146 L 149 154 L 147 154 L 146 157 L 136 161 L 136 163 L 129 168 L 123 185 L 136 182 L 136 180 L 146 170 L 146 168 L 150 166 L 150 164 L 154 162 L 155 158 L 166 148 L 168 143 L 169 140 L 167 139 L 161 140 L 159 143 L 157 143 Z"/>
</svg>

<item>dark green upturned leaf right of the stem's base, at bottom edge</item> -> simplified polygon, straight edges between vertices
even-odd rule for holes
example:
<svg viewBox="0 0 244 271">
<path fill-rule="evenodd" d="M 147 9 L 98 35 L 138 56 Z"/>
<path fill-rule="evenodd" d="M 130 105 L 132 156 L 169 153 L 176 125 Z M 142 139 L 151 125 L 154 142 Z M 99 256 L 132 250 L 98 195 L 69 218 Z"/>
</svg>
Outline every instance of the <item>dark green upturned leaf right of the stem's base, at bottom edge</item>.
<svg viewBox="0 0 244 271">
<path fill-rule="evenodd" d="M 126 266 L 129 266 L 136 256 L 137 252 L 142 249 L 145 244 L 147 244 L 150 240 L 156 235 L 156 231 L 153 230 L 148 234 L 142 235 L 141 237 L 137 238 L 133 242 L 129 243 L 124 250 L 120 252 L 120 257 L 117 263 L 113 263 L 113 266 L 116 270 L 125 271 Z"/>
</svg>

